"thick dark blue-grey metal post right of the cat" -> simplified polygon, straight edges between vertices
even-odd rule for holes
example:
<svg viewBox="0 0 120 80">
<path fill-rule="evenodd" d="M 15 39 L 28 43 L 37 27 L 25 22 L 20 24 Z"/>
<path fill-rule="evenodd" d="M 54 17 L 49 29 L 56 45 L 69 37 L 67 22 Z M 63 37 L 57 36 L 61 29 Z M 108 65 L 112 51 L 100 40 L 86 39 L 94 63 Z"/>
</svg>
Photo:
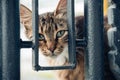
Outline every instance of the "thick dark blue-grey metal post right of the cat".
<svg viewBox="0 0 120 80">
<path fill-rule="evenodd" d="M 85 80 L 103 79 L 103 0 L 85 0 Z"/>
</svg>

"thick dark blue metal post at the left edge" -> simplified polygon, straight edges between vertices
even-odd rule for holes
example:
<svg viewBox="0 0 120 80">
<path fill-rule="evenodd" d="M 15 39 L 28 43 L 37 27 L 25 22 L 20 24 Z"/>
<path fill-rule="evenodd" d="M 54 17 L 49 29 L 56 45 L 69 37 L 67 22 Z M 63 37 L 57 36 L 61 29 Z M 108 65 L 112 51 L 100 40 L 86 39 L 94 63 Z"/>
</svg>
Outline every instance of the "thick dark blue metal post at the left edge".
<svg viewBox="0 0 120 80">
<path fill-rule="evenodd" d="M 0 80 L 20 80 L 19 40 L 19 1 L 0 0 Z"/>
</svg>

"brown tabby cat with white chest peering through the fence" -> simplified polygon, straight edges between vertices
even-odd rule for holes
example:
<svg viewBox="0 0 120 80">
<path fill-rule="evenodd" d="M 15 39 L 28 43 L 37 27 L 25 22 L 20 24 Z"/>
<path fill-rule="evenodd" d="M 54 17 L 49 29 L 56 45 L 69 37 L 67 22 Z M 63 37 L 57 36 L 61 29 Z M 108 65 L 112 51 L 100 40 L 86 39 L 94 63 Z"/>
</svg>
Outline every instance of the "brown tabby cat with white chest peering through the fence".
<svg viewBox="0 0 120 80">
<path fill-rule="evenodd" d="M 39 15 L 39 52 L 46 57 L 52 66 L 69 64 L 66 3 L 67 0 L 60 0 L 55 11 Z M 75 18 L 76 38 L 79 39 L 83 38 L 83 21 L 83 16 Z M 27 38 L 31 39 L 32 11 L 24 5 L 20 5 L 20 22 L 25 26 Z M 107 24 L 107 18 L 105 18 L 104 25 L 106 32 L 110 28 Z M 76 68 L 55 70 L 56 79 L 84 80 L 84 54 L 83 48 L 76 48 Z"/>
</svg>

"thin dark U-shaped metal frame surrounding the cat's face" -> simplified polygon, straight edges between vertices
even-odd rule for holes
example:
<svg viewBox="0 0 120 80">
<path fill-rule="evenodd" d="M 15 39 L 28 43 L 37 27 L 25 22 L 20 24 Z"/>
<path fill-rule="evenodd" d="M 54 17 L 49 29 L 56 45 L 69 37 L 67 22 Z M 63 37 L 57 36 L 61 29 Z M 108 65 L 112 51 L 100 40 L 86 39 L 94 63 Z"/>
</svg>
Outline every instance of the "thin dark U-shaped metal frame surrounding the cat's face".
<svg viewBox="0 0 120 80">
<path fill-rule="evenodd" d="M 33 0 L 33 68 L 34 70 L 57 70 L 57 69 L 73 69 L 76 65 L 76 55 L 75 55 L 75 31 L 74 31 L 74 0 L 67 1 L 67 13 L 68 15 L 68 26 L 69 26 L 69 59 L 71 65 L 69 66 L 56 66 L 56 67 L 42 67 L 39 65 L 39 56 L 38 56 L 38 0 Z M 72 23 L 71 23 L 72 22 Z"/>
</svg>

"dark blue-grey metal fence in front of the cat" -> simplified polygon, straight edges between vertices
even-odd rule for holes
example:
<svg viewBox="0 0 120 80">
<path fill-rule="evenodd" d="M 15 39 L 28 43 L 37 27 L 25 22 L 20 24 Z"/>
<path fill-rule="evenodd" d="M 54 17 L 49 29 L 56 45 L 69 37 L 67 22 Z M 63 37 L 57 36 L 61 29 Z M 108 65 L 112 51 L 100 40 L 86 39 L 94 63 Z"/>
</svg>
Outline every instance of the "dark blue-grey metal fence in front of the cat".
<svg viewBox="0 0 120 80">
<path fill-rule="evenodd" d="M 110 0 L 111 1 L 111 0 Z M 113 0 L 116 5 L 114 10 L 110 8 L 113 14 L 109 14 L 109 23 L 117 26 L 117 37 L 115 38 L 115 49 L 119 54 L 119 0 Z M 75 67 L 75 47 L 82 46 L 86 49 L 85 54 L 85 80 L 104 80 L 104 61 L 103 61 L 103 0 L 85 0 L 85 34 L 84 39 L 76 40 L 74 36 L 74 0 L 68 0 L 68 26 L 69 26 L 69 53 L 71 66 L 60 67 L 41 67 L 38 64 L 38 4 L 33 0 L 33 35 L 32 42 L 20 40 L 20 21 L 19 21 L 19 1 L 18 0 L 0 0 L 0 80 L 20 80 L 20 48 L 33 48 L 33 68 L 35 70 L 63 69 Z M 112 17 L 111 17 L 112 16 Z M 114 17 L 115 16 L 115 17 Z M 110 33 L 108 33 L 109 38 Z M 110 37 L 111 38 L 111 37 Z M 109 41 L 110 42 L 110 41 Z M 116 43 L 117 42 L 117 43 Z M 112 46 L 113 48 L 113 46 Z M 116 51 L 116 50 L 115 50 Z M 109 52 L 110 54 L 110 52 Z M 114 53 L 115 54 L 115 53 Z M 111 56 L 111 55 L 110 55 Z M 120 59 L 115 56 L 115 59 Z M 111 59 L 110 59 L 111 60 Z M 114 65 L 114 62 L 111 61 Z M 115 61 L 117 70 L 120 62 Z M 116 71 L 116 68 L 111 67 Z M 120 71 L 119 71 L 120 72 Z M 115 72 L 119 80 L 119 72 Z"/>
</svg>

